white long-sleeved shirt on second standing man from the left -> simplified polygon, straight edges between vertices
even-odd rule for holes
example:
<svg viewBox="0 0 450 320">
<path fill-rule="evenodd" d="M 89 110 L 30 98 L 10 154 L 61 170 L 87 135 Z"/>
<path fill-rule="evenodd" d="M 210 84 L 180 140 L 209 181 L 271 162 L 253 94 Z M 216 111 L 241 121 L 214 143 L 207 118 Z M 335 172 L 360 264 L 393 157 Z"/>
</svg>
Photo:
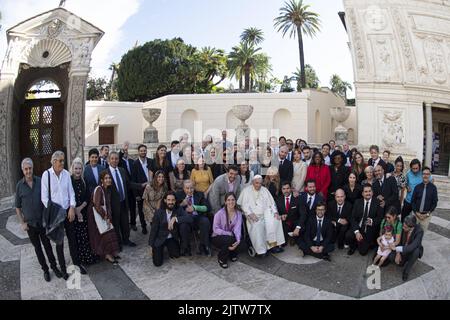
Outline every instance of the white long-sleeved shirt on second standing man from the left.
<svg viewBox="0 0 450 320">
<path fill-rule="evenodd" d="M 50 168 L 50 189 L 52 202 L 59 204 L 63 209 L 67 210 L 69 207 L 76 207 L 75 192 L 73 191 L 72 180 L 70 173 L 67 170 L 61 171 L 59 177 L 55 170 Z M 41 179 L 41 200 L 44 206 L 48 205 L 48 173 L 44 172 Z"/>
</svg>

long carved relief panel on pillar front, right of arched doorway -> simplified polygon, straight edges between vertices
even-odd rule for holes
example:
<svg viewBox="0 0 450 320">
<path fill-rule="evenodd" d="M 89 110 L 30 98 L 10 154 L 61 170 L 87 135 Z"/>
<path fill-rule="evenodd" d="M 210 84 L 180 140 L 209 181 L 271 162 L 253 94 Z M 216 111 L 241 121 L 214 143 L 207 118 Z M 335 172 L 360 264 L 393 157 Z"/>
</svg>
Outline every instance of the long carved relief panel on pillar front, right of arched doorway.
<svg viewBox="0 0 450 320">
<path fill-rule="evenodd" d="M 69 141 L 71 161 L 83 157 L 84 144 L 84 104 L 87 76 L 74 76 L 71 80 L 71 100 L 69 121 Z"/>
</svg>

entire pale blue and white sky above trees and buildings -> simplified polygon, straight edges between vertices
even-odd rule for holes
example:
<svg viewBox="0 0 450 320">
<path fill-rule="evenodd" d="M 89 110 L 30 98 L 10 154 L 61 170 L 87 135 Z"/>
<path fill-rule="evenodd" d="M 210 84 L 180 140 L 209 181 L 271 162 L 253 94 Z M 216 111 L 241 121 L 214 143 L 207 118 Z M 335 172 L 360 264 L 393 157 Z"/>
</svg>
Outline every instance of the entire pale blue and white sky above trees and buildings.
<svg viewBox="0 0 450 320">
<path fill-rule="evenodd" d="M 0 0 L 3 28 L 0 54 L 4 55 L 4 31 L 13 24 L 57 6 L 57 0 Z M 282 79 L 299 65 L 297 41 L 283 38 L 273 28 L 284 0 L 67 0 L 66 8 L 106 31 L 93 56 L 92 74 L 109 76 L 108 66 L 119 62 L 127 50 L 156 38 L 181 37 L 197 47 L 229 51 L 247 27 L 264 31 L 263 51 L 272 59 L 273 75 Z M 306 0 L 320 14 L 322 32 L 305 39 L 305 59 L 327 86 L 333 73 L 353 82 L 348 37 L 339 19 L 342 0 Z"/>
</svg>

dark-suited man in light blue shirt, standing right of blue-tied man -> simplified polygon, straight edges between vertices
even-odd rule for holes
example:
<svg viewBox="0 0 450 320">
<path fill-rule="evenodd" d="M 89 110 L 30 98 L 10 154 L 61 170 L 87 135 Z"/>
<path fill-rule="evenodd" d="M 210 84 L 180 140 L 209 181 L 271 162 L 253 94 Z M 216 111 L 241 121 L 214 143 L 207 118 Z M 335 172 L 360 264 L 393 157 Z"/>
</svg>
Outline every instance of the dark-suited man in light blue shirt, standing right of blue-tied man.
<svg viewBox="0 0 450 320">
<path fill-rule="evenodd" d="M 139 158 L 134 161 L 133 169 L 131 170 L 131 181 L 141 185 L 139 190 L 135 190 L 134 196 L 138 203 L 139 220 L 141 221 L 142 233 L 147 234 L 147 223 L 144 217 L 144 200 L 142 200 L 142 195 L 144 194 L 145 186 L 150 182 L 150 165 L 151 159 L 147 158 L 147 147 L 145 145 L 140 145 L 138 147 Z M 136 231 L 136 216 L 131 217 L 131 229 Z"/>
</svg>

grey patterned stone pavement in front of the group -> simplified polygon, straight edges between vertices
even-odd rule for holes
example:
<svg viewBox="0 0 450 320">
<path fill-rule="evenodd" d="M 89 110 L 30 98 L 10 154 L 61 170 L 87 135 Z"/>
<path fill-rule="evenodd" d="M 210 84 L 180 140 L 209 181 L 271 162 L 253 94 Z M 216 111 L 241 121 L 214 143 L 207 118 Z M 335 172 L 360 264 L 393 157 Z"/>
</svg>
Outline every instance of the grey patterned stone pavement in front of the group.
<svg viewBox="0 0 450 320">
<path fill-rule="evenodd" d="M 147 236 L 132 231 L 138 246 L 125 248 L 120 266 L 99 263 L 81 276 L 80 289 L 53 274 L 43 279 L 34 249 L 12 210 L 0 212 L 0 300 L 5 299 L 449 299 L 450 210 L 438 210 L 425 234 L 425 253 L 407 282 L 401 269 L 381 269 L 381 289 L 369 290 L 366 273 L 373 254 L 332 254 L 332 262 L 300 257 L 296 247 L 280 255 L 251 258 L 224 270 L 217 258 L 183 257 L 155 268 Z M 65 248 L 68 248 L 65 245 Z M 216 252 L 214 252 L 216 254 Z M 70 255 L 66 252 L 66 259 Z M 68 261 L 70 263 L 70 261 Z"/>
</svg>

